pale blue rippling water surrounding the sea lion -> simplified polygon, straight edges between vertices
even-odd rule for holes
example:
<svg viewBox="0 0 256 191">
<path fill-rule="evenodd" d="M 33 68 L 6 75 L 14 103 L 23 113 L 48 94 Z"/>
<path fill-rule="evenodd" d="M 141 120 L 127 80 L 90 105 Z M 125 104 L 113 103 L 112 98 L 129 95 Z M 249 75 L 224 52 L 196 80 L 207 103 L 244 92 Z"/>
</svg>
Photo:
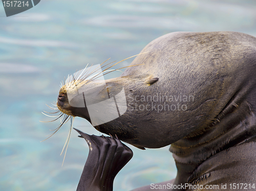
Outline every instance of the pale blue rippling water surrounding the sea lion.
<svg viewBox="0 0 256 191">
<path fill-rule="evenodd" d="M 0 190 L 75 190 L 88 155 L 86 141 L 72 131 L 67 156 L 59 156 L 69 124 L 40 142 L 59 122 L 51 118 L 59 84 L 87 63 L 120 61 L 153 39 L 175 31 L 238 31 L 256 36 L 256 2 L 246 1 L 57 1 L 6 17 L 0 4 Z M 132 59 L 121 62 L 127 66 Z M 113 78 L 116 71 L 107 76 Z M 86 120 L 74 127 L 99 135 Z M 168 147 L 134 151 L 114 190 L 175 178 Z"/>
</svg>

